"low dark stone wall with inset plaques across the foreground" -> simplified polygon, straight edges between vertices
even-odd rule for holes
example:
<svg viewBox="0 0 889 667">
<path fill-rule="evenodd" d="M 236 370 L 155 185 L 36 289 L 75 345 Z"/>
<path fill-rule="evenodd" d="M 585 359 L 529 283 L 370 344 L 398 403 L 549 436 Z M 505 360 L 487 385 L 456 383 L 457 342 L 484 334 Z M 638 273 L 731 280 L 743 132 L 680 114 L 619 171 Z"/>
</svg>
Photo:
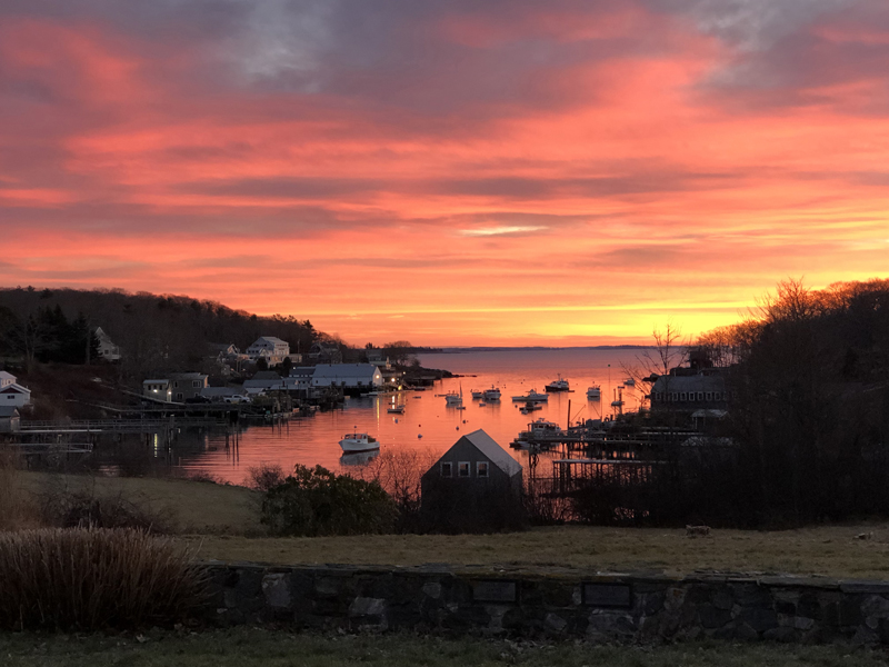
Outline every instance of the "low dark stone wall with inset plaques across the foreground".
<svg viewBox="0 0 889 667">
<path fill-rule="evenodd" d="M 213 623 L 583 637 L 889 644 L 889 583 L 491 569 L 208 565 Z"/>
</svg>

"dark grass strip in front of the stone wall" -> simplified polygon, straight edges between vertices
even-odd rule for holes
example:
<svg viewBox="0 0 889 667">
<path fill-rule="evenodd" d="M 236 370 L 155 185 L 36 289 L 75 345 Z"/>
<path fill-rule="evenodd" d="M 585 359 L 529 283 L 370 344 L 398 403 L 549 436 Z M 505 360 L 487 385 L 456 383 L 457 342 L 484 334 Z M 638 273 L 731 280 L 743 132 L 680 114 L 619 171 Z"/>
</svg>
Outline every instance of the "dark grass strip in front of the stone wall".
<svg viewBox="0 0 889 667">
<path fill-rule="evenodd" d="M 406 635 L 320 636 L 261 629 L 141 637 L 0 634 L 7 667 L 876 667 L 880 650 L 845 646 L 682 644 L 657 648 L 587 644 L 516 644 Z"/>
</svg>

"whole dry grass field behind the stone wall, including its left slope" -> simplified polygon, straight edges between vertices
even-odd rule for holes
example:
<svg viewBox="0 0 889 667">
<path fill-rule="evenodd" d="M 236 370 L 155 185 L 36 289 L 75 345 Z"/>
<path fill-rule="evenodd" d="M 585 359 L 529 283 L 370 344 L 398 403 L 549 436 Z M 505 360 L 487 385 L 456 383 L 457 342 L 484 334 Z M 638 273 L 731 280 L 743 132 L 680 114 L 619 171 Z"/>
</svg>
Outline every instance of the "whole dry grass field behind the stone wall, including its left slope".
<svg viewBox="0 0 889 667">
<path fill-rule="evenodd" d="M 0 470 L 2 472 L 2 470 Z M 261 495 L 243 487 L 176 479 L 108 478 L 39 472 L 6 475 L 0 505 L 34 520 L 31 505 L 49 492 L 120 496 L 169 518 L 200 559 L 281 565 L 448 564 L 506 569 L 691 574 L 731 571 L 889 579 L 889 524 L 802 530 L 713 530 L 689 538 L 683 529 L 566 526 L 503 535 L 384 535 L 271 538 L 259 524 Z M 14 492 L 4 489 L 16 489 Z M 6 500 L 4 500 L 6 499 Z M 0 508 L 0 517 L 9 517 Z M 9 521 L 7 521 L 9 524 Z M 0 526 L 2 529 L 2 526 Z M 872 534 L 869 539 L 857 539 Z"/>
</svg>

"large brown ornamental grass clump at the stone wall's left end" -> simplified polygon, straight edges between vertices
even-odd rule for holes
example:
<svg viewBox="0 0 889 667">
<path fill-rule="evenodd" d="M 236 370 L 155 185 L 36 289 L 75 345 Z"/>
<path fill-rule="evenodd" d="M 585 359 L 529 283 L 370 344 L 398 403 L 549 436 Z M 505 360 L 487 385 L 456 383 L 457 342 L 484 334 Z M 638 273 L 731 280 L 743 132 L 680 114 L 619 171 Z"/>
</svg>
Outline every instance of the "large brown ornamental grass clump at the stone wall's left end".
<svg viewBox="0 0 889 667">
<path fill-rule="evenodd" d="M 0 534 L 0 628 L 127 629 L 186 619 L 207 578 L 168 538 L 131 529 Z"/>
</svg>

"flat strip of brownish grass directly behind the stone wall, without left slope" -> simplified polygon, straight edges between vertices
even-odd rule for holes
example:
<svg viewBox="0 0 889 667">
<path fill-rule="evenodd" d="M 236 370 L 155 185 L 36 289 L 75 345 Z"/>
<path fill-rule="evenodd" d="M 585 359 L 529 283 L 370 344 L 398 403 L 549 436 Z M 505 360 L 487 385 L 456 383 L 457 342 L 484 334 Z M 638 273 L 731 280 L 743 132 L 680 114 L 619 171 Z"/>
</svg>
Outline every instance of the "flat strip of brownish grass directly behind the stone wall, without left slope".
<svg viewBox="0 0 889 667">
<path fill-rule="evenodd" d="M 868 540 L 856 539 L 872 531 Z M 188 537 L 198 557 L 274 564 L 540 567 L 583 570 L 791 573 L 889 579 L 889 526 L 822 527 L 771 532 L 556 527 L 505 535 L 382 535 L 361 537 Z"/>
</svg>

